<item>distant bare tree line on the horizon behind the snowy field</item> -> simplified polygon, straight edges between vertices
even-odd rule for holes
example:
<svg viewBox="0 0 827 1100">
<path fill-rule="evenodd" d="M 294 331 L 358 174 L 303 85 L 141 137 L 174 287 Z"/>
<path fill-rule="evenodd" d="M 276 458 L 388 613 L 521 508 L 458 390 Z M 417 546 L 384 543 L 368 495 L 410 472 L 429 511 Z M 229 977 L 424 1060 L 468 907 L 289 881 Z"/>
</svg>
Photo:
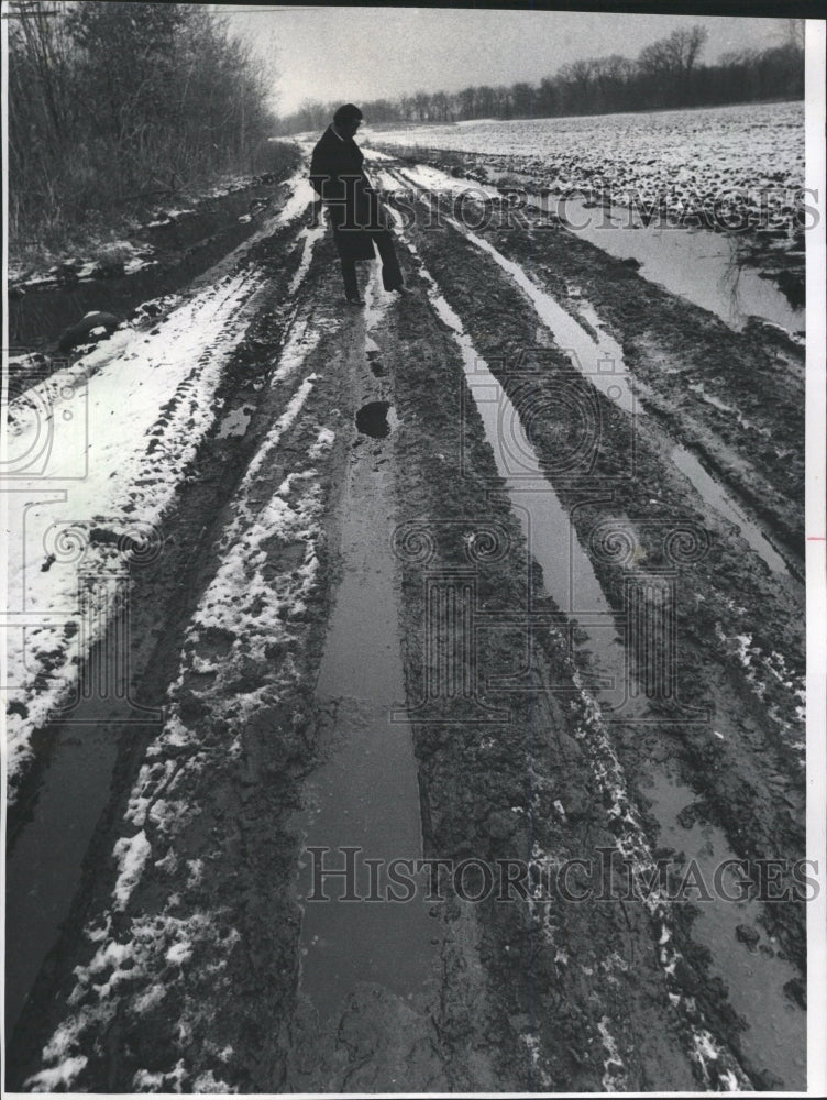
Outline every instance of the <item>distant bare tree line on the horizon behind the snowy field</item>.
<svg viewBox="0 0 827 1100">
<path fill-rule="evenodd" d="M 368 122 L 382 124 L 554 118 L 797 99 L 804 95 L 801 22 L 790 21 L 789 41 L 783 45 L 731 52 L 710 65 L 699 59 L 707 31 L 696 25 L 646 46 L 633 61 L 611 54 L 570 62 L 539 84 L 418 91 L 360 107 Z M 279 119 L 278 132 L 323 128 L 337 106 L 306 101 L 298 111 Z"/>
</svg>

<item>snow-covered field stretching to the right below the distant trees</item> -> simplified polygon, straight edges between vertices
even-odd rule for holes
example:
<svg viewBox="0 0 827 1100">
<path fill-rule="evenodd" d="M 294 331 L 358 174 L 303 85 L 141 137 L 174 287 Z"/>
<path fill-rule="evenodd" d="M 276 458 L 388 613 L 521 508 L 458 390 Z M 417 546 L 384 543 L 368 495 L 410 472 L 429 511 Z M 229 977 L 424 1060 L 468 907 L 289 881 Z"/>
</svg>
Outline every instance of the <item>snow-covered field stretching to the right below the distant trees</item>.
<svg viewBox="0 0 827 1100">
<path fill-rule="evenodd" d="M 515 168 L 561 194 L 605 182 L 618 200 L 633 189 L 642 201 L 666 196 L 670 207 L 723 190 L 752 196 L 769 188 L 780 209 L 790 200 L 782 193 L 804 184 L 802 102 L 365 128 L 364 136 L 379 146 L 514 160 Z"/>
</svg>

